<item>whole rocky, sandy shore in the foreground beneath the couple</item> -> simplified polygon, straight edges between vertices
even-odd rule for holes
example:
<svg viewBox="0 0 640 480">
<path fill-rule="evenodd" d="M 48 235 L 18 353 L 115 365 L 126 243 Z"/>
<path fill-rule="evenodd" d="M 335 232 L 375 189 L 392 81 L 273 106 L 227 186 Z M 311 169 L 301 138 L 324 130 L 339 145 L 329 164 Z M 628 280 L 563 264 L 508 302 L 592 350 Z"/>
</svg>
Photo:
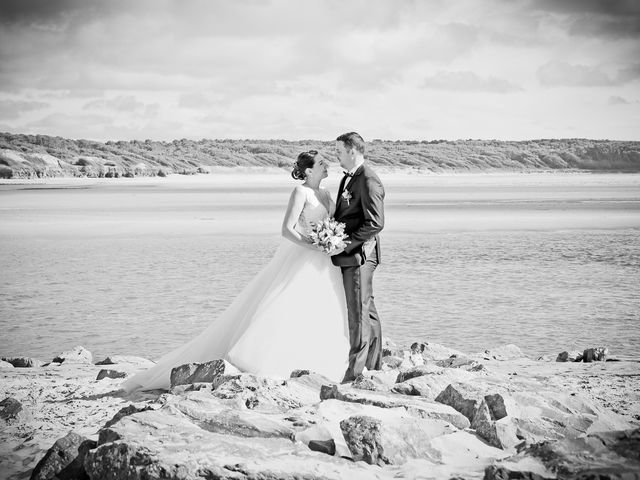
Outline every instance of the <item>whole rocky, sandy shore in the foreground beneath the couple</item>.
<svg viewBox="0 0 640 480">
<path fill-rule="evenodd" d="M 352 384 L 214 360 L 129 395 L 149 360 L 3 358 L 0 478 L 640 478 L 640 364 L 607 353 L 387 344 Z"/>
</svg>

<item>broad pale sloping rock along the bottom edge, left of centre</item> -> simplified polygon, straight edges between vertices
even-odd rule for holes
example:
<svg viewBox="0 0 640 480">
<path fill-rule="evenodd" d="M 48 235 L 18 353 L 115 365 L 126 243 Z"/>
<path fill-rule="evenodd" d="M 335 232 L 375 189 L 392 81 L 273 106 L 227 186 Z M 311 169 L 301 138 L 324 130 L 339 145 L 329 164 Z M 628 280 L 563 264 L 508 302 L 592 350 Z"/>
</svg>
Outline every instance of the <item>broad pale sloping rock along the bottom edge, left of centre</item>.
<svg viewBox="0 0 640 480">
<path fill-rule="evenodd" d="M 189 395 L 203 395 L 200 392 Z M 223 402 L 224 403 L 224 402 Z M 85 459 L 90 478 L 376 478 L 375 467 L 313 452 L 282 437 L 246 437 L 202 428 L 169 408 L 137 413 L 100 435 Z"/>
</svg>

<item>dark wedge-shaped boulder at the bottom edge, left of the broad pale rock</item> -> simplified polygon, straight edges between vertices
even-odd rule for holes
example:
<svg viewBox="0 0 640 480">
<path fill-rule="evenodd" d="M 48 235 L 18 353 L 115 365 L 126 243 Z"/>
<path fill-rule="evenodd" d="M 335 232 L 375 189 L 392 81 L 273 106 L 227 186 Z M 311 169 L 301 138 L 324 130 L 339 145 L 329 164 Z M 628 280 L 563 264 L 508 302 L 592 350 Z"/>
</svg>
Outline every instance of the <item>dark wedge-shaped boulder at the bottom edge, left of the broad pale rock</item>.
<svg viewBox="0 0 640 480">
<path fill-rule="evenodd" d="M 53 444 L 38 462 L 31 480 L 76 480 L 87 478 L 84 459 L 87 452 L 96 447 L 96 442 L 77 433 L 70 432 Z"/>
</svg>

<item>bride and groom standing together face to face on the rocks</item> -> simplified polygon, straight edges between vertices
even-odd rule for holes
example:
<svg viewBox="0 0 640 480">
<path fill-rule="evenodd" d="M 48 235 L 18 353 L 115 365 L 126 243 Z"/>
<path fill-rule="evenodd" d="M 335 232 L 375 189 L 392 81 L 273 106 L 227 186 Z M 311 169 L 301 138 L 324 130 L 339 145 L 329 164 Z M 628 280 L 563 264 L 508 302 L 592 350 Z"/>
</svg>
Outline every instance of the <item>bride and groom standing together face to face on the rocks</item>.
<svg viewBox="0 0 640 480">
<path fill-rule="evenodd" d="M 171 369 L 224 358 L 244 372 L 288 378 L 308 369 L 334 381 L 381 367 L 382 333 L 373 298 L 384 226 L 384 188 L 355 133 L 336 139 L 345 176 L 336 200 L 320 184 L 327 165 L 314 150 L 298 155 L 283 240 L 227 309 L 186 344 L 122 384 L 125 391 L 167 389 Z M 313 225 L 345 224 L 346 247 L 327 255 L 309 239 Z"/>
</svg>

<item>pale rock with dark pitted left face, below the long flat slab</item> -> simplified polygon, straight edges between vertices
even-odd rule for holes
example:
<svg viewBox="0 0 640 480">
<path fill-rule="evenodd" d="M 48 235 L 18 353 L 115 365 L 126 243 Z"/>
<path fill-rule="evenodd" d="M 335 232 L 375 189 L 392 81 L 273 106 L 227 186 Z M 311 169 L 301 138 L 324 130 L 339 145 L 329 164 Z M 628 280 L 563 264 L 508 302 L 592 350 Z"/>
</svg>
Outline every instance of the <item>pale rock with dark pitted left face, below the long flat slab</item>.
<svg viewBox="0 0 640 480">
<path fill-rule="evenodd" d="M 457 431 L 442 420 L 399 418 L 393 422 L 356 415 L 340 422 L 353 459 L 372 465 L 400 465 L 409 459 L 439 460 L 434 438 Z"/>
</svg>

